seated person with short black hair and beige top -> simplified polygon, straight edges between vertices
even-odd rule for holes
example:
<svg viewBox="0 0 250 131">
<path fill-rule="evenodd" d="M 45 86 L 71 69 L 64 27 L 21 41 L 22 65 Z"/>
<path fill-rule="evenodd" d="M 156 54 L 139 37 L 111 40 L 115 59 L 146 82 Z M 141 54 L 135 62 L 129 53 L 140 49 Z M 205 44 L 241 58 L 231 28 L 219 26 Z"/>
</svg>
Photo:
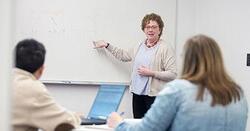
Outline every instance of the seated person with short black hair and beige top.
<svg viewBox="0 0 250 131">
<path fill-rule="evenodd" d="M 54 131 L 62 123 L 80 125 L 80 116 L 57 104 L 38 80 L 44 70 L 45 53 L 43 44 L 34 39 L 20 41 L 15 47 L 13 131 Z"/>
</svg>

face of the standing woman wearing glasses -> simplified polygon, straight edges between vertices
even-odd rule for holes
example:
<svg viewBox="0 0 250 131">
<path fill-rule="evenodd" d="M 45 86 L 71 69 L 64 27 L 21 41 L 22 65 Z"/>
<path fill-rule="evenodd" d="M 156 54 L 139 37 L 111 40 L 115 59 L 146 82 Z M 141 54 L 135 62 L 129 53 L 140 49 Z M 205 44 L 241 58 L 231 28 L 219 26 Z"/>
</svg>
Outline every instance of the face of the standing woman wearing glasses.
<svg viewBox="0 0 250 131">
<path fill-rule="evenodd" d="M 144 33 L 149 41 L 158 40 L 160 34 L 160 28 L 156 21 L 150 20 L 144 28 Z"/>
</svg>

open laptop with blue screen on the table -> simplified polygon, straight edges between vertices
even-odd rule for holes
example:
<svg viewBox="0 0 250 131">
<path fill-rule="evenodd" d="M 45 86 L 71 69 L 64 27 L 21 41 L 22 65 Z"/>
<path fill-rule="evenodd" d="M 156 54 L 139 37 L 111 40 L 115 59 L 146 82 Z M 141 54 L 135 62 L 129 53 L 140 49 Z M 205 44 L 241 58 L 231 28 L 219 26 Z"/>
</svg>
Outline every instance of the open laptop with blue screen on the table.
<svg viewBox="0 0 250 131">
<path fill-rule="evenodd" d="M 125 85 L 101 85 L 87 118 L 81 125 L 106 124 L 110 113 L 116 112 L 125 92 Z"/>
</svg>

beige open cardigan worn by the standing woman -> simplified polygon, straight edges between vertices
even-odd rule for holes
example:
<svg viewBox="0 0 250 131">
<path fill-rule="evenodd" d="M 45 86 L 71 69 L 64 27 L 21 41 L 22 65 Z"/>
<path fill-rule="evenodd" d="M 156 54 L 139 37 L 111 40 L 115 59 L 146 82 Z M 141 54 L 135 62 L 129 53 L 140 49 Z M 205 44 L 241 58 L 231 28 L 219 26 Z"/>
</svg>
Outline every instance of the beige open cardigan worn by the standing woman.
<svg viewBox="0 0 250 131">
<path fill-rule="evenodd" d="M 107 50 L 120 61 L 131 61 L 133 65 L 140 44 L 128 51 L 112 45 L 109 45 Z M 174 80 L 177 76 L 175 53 L 172 47 L 162 39 L 157 44 L 159 44 L 159 48 L 155 56 L 152 57 L 150 64 L 150 69 L 156 71 L 156 74 L 154 77 L 149 77 L 149 96 L 156 96 L 162 90 L 165 83 Z"/>
</svg>

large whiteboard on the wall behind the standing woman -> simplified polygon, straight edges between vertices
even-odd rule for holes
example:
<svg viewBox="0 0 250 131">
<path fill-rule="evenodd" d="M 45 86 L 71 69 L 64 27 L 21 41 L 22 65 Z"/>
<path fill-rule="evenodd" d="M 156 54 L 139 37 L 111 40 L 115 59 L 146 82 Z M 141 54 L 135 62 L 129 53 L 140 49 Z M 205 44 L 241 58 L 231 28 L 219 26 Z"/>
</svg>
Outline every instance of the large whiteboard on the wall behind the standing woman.
<svg viewBox="0 0 250 131">
<path fill-rule="evenodd" d="M 105 40 L 128 49 L 145 39 L 141 20 L 159 14 L 163 39 L 174 45 L 176 0 L 16 0 L 15 41 L 35 38 L 47 50 L 44 81 L 130 81 L 123 63 L 92 41 Z"/>
</svg>

